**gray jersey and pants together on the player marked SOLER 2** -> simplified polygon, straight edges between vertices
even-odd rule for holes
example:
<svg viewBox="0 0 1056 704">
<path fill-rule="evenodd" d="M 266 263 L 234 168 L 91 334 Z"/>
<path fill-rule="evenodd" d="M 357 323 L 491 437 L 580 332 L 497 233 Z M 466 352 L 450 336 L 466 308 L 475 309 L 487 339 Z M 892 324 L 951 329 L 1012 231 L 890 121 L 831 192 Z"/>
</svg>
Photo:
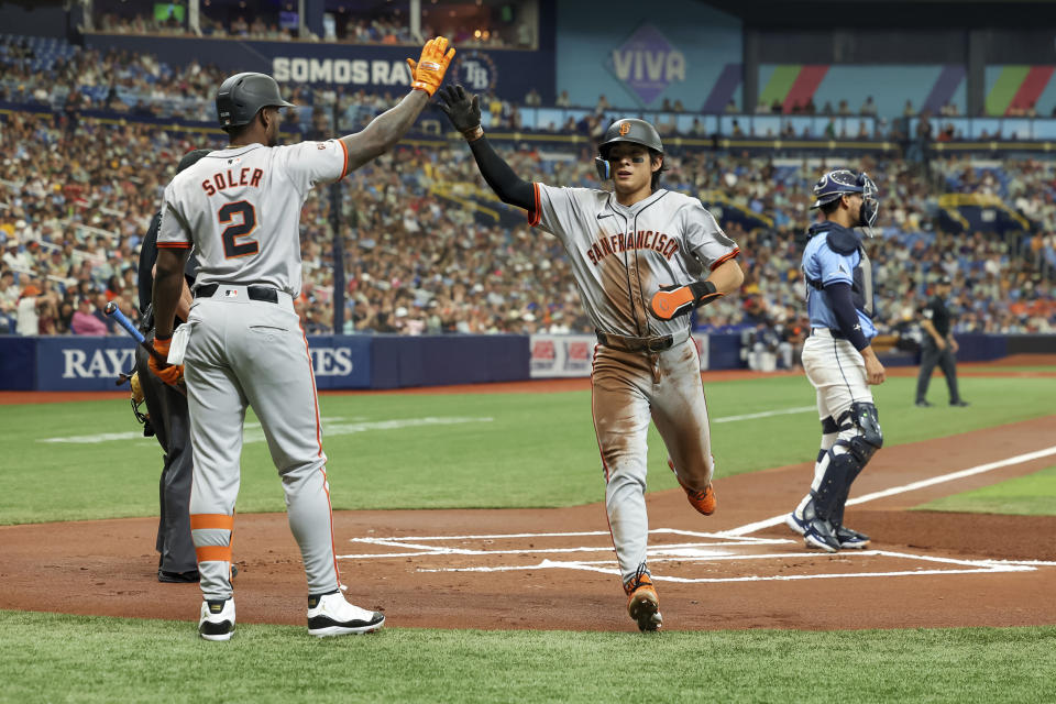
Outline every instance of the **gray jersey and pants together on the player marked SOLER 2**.
<svg viewBox="0 0 1056 704">
<path fill-rule="evenodd" d="M 242 422 L 252 406 L 283 479 L 311 594 L 333 591 L 322 429 L 300 293 L 300 210 L 317 184 L 342 178 L 339 140 L 210 153 L 165 189 L 160 248 L 195 245 L 198 278 L 184 359 L 194 486 L 190 527 L 207 600 L 231 596 L 231 530 Z"/>
</svg>

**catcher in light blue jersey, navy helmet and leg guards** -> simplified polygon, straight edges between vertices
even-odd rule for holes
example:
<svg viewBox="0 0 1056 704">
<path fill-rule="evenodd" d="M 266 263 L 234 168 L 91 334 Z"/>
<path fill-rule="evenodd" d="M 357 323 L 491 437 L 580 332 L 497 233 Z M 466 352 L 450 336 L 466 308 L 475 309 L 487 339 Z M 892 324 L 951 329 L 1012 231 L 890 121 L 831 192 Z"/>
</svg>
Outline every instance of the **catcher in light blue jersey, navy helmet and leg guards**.
<svg viewBox="0 0 1056 704">
<path fill-rule="evenodd" d="M 814 185 L 814 205 L 824 220 L 809 229 L 803 252 L 811 337 L 803 344 L 803 370 L 817 391 L 822 448 L 814 482 L 789 528 L 807 547 L 826 552 L 861 549 L 869 536 L 844 525 L 844 506 L 855 477 L 883 444 L 870 384 L 882 384 L 883 365 L 869 344 L 872 324 L 872 268 L 861 234 L 877 221 L 877 187 L 865 173 L 832 170 Z"/>
</svg>

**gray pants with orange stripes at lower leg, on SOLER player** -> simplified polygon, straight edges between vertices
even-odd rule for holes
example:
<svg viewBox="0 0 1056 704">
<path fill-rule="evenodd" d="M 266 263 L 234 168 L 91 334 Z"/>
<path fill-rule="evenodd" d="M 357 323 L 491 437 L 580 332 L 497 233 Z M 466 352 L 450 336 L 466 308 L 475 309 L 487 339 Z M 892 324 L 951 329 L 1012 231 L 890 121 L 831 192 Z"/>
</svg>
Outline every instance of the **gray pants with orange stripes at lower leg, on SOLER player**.
<svg viewBox="0 0 1056 704">
<path fill-rule="evenodd" d="M 206 598 L 231 596 L 231 532 L 239 493 L 242 425 L 252 406 L 286 495 L 308 592 L 339 586 L 330 490 L 308 341 L 288 295 L 253 300 L 221 285 L 191 307 L 185 358 L 195 451 L 190 527 Z M 262 468 L 248 466 L 248 472 Z"/>
</svg>

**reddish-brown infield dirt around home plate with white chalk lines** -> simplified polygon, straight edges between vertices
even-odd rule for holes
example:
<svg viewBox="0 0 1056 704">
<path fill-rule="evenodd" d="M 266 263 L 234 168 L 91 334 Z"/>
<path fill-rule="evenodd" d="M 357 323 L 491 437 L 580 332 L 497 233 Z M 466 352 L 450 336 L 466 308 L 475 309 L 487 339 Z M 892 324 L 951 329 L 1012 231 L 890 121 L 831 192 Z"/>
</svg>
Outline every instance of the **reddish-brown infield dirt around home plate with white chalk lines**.
<svg viewBox="0 0 1056 704">
<path fill-rule="evenodd" d="M 853 498 L 1042 450 L 1054 438 L 1049 416 L 884 449 Z M 686 531 L 651 538 L 666 556 L 652 564 L 664 629 L 1056 624 L 1056 564 L 1001 571 L 1007 563 L 985 562 L 1056 561 L 1056 517 L 908 510 L 1035 472 L 1053 457 L 849 507 L 847 524 L 871 535 L 879 553 L 807 552 L 783 525 L 750 534 L 747 543 L 697 535 L 789 512 L 811 464 L 717 480 L 718 510 L 710 518 L 681 491 L 649 494 L 651 527 Z M 146 518 L 0 527 L 0 608 L 193 619 L 198 586 L 155 579 L 155 529 Z M 339 562 L 349 598 L 400 627 L 635 630 L 606 531 L 601 503 L 334 515 L 338 554 L 360 556 Z M 570 532 L 587 535 L 553 535 Z M 378 540 L 386 538 L 400 544 Z M 238 516 L 233 549 L 240 622 L 302 625 L 305 578 L 285 515 Z"/>
</svg>

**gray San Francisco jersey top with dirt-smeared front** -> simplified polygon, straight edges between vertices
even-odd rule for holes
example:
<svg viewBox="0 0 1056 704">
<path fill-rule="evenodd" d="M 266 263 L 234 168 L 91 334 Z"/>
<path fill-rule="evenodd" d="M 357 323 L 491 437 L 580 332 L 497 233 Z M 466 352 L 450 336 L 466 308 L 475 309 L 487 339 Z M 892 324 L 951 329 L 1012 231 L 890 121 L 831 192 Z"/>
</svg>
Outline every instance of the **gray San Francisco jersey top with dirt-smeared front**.
<svg viewBox="0 0 1056 704">
<path fill-rule="evenodd" d="M 602 332 L 645 338 L 684 330 L 686 317 L 649 315 L 652 295 L 704 278 L 739 253 L 696 198 L 660 189 L 626 207 L 604 190 L 532 186 L 529 222 L 564 244 L 583 307 Z"/>
</svg>

